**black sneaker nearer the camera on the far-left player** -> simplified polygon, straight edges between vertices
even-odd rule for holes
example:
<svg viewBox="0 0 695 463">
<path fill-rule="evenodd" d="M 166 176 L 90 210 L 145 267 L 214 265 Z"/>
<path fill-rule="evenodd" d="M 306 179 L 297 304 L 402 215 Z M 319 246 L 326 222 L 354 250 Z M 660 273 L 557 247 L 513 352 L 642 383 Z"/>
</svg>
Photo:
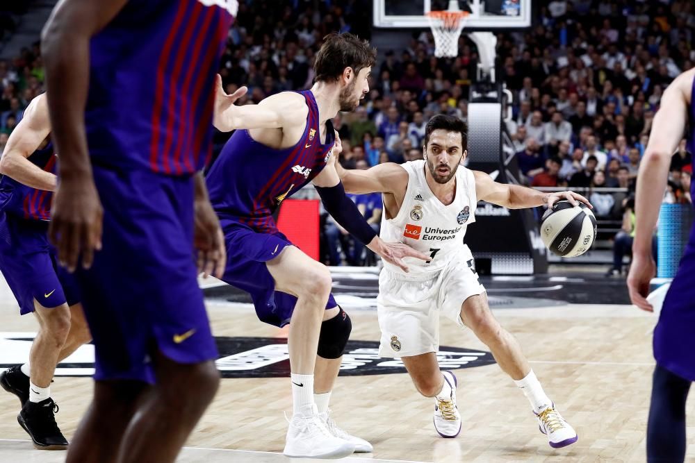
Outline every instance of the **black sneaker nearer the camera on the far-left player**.
<svg viewBox="0 0 695 463">
<path fill-rule="evenodd" d="M 55 413 L 58 404 L 52 398 L 39 403 L 27 402 L 17 415 L 19 426 L 31 437 L 34 448 L 39 450 L 65 450 L 67 439 L 63 436 L 56 423 Z"/>
</svg>

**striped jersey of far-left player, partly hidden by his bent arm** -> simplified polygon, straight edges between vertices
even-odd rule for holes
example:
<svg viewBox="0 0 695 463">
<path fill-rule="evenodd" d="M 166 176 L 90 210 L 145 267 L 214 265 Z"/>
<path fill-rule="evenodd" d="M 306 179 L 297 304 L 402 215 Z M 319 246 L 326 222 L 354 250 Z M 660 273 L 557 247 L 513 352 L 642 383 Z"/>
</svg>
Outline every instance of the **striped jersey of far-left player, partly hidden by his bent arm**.
<svg viewBox="0 0 695 463">
<path fill-rule="evenodd" d="M 31 153 L 28 157 L 44 171 L 56 173 L 58 156 L 51 143 Z M 19 183 L 14 178 L 0 178 L 0 210 L 30 220 L 50 220 L 53 192 L 38 190 Z"/>
</svg>

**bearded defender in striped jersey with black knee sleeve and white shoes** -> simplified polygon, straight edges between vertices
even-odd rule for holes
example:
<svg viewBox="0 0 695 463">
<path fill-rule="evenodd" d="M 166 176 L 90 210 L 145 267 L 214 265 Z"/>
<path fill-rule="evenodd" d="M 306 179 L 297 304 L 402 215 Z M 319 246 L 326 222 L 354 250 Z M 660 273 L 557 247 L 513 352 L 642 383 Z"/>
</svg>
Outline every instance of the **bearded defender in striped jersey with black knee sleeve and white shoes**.
<svg viewBox="0 0 695 463">
<path fill-rule="evenodd" d="M 316 54 L 311 90 L 234 106 L 238 93 L 227 96 L 221 85 L 218 89 L 215 126 L 238 129 L 207 176 L 227 242 L 222 280 L 251 294 L 261 321 L 290 324 L 294 410 L 284 448 L 290 457 L 342 457 L 370 452 L 372 446 L 337 428 L 328 414 L 350 317 L 331 295 L 329 270 L 293 246 L 277 230 L 272 213 L 311 182 L 338 224 L 387 262 L 404 270 L 405 256 L 427 258 L 379 239 L 345 196 L 331 160 L 338 152 L 330 119 L 357 108 L 369 90 L 374 62 L 375 50 L 367 42 L 332 34 Z"/>
</svg>

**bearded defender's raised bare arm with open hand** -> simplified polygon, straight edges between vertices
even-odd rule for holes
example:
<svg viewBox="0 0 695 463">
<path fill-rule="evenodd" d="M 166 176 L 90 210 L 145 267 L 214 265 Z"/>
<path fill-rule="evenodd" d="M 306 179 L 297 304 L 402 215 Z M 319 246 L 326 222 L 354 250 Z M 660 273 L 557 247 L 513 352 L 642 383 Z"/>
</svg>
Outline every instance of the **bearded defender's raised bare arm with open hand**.
<svg viewBox="0 0 695 463">
<path fill-rule="evenodd" d="M 247 92 L 240 87 L 229 95 L 222 88 L 222 77 L 215 84 L 215 115 L 213 126 L 222 132 L 236 129 L 283 128 L 286 124 L 297 124 L 306 117 L 304 99 L 294 92 L 281 92 L 263 99 L 257 105 L 236 106 L 236 101 Z"/>
</svg>

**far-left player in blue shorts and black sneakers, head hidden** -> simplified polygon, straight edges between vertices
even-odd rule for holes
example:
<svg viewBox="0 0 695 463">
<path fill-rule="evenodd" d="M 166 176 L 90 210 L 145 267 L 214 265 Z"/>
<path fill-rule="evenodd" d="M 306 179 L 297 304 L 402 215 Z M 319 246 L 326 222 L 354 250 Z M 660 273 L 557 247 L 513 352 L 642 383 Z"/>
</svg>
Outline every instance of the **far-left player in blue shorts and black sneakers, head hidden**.
<svg viewBox="0 0 695 463">
<path fill-rule="evenodd" d="M 39 322 L 29 362 L 0 373 L 0 386 L 22 403 L 17 421 L 35 448 L 62 450 L 67 440 L 54 417 L 51 380 L 56 364 L 89 342 L 90 334 L 74 276 L 58 266 L 48 241 L 57 158 L 50 132 L 46 94 L 40 94 L 0 159 L 0 271 L 19 313 L 33 312 Z"/>
</svg>

